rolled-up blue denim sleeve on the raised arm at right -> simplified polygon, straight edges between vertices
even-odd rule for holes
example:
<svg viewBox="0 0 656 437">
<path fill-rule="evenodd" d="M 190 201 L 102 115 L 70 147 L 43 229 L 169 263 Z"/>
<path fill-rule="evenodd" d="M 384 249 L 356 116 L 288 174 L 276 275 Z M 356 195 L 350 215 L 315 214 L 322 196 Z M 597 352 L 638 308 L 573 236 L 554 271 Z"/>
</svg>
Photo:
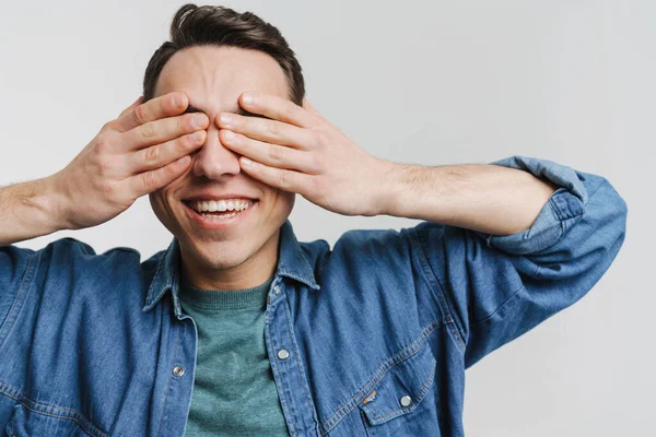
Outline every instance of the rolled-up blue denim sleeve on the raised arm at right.
<svg viewBox="0 0 656 437">
<path fill-rule="evenodd" d="M 626 203 L 601 176 L 525 156 L 491 164 L 558 189 L 532 225 L 513 235 L 431 222 L 415 227 L 467 367 L 582 298 L 612 263 L 626 227 Z"/>
</svg>

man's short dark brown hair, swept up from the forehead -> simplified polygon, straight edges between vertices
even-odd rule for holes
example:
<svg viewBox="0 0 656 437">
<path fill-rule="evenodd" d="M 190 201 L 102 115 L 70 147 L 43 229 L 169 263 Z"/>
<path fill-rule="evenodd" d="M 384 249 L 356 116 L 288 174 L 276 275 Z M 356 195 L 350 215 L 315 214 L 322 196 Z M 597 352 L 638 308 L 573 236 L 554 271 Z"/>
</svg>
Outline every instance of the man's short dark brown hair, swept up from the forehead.
<svg viewBox="0 0 656 437">
<path fill-rule="evenodd" d="M 290 99 L 301 105 L 305 95 L 301 64 L 278 28 L 251 12 L 196 4 L 178 9 L 171 23 L 171 40 L 162 44 L 150 59 L 143 76 L 144 102 L 154 97 L 160 73 L 168 59 L 194 46 L 238 47 L 270 55 L 288 79 Z"/>
</svg>

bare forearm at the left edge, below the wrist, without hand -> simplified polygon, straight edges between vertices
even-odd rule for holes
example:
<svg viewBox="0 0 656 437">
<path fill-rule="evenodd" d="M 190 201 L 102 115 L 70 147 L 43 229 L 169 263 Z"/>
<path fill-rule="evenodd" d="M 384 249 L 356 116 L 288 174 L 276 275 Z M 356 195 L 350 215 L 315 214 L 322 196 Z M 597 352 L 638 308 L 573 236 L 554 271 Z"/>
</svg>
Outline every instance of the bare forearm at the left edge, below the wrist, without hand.
<svg viewBox="0 0 656 437">
<path fill-rule="evenodd" d="M 66 228 L 61 205 L 51 178 L 0 188 L 0 246 Z"/>
</svg>

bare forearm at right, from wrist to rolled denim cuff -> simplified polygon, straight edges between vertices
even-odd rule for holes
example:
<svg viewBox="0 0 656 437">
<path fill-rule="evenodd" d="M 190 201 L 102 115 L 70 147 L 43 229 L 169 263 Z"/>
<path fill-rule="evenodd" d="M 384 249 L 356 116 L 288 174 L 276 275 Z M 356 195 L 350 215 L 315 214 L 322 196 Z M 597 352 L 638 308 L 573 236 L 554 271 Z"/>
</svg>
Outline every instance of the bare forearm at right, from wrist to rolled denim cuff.
<svg viewBox="0 0 656 437">
<path fill-rule="evenodd" d="M 383 213 L 493 235 L 535 222 L 557 186 L 528 172 L 490 164 L 391 164 Z"/>
</svg>

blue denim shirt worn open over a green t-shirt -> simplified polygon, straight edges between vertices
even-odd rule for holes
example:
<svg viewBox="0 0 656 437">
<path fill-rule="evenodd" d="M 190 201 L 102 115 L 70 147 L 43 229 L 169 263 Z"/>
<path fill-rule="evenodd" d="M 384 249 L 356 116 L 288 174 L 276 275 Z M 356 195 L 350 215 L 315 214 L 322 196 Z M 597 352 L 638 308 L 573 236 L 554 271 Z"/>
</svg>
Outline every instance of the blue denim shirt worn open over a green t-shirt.
<svg viewBox="0 0 656 437">
<path fill-rule="evenodd" d="M 265 338 L 292 436 L 462 436 L 465 369 L 609 268 L 628 210 L 604 177 L 523 156 L 492 164 L 559 186 L 530 228 L 421 222 L 349 231 L 331 249 L 284 223 Z M 197 333 L 178 267 L 175 239 L 144 262 L 72 238 L 0 248 L 3 435 L 181 436 Z"/>
</svg>

